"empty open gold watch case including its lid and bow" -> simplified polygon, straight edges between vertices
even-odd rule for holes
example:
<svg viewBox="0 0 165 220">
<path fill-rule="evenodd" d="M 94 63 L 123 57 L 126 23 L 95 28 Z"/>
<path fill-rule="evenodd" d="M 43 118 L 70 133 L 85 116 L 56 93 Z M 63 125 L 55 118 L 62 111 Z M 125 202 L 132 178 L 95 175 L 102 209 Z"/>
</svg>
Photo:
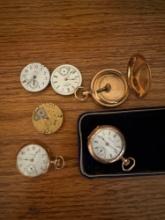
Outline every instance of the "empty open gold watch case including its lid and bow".
<svg viewBox="0 0 165 220">
<path fill-rule="evenodd" d="M 122 104 L 129 95 L 129 88 L 141 98 L 145 96 L 151 84 L 151 71 L 145 58 L 136 54 L 128 63 L 127 78 L 118 70 L 104 69 L 92 79 L 90 90 L 84 87 L 75 90 L 75 97 L 85 101 L 89 95 L 106 107 L 115 107 Z"/>
</svg>

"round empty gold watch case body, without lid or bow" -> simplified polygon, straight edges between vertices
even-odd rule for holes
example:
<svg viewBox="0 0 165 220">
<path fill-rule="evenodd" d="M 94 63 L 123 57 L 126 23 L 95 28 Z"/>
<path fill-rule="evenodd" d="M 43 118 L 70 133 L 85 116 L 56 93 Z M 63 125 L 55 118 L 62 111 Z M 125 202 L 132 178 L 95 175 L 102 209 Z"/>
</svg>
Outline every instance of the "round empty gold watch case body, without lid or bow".
<svg viewBox="0 0 165 220">
<path fill-rule="evenodd" d="M 117 70 L 104 69 L 91 82 L 93 98 L 101 105 L 115 107 L 128 97 L 128 84 L 123 74 Z"/>
</svg>

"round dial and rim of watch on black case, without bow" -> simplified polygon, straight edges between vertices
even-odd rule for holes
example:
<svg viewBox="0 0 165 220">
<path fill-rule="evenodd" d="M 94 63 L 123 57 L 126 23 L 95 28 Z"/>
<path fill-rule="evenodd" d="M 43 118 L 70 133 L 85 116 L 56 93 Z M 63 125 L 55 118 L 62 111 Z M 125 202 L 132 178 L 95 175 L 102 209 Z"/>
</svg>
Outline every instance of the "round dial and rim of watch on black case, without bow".
<svg viewBox="0 0 165 220">
<path fill-rule="evenodd" d="M 125 150 L 123 135 L 112 126 L 97 128 L 90 137 L 89 150 L 103 163 L 116 161 Z"/>
</svg>

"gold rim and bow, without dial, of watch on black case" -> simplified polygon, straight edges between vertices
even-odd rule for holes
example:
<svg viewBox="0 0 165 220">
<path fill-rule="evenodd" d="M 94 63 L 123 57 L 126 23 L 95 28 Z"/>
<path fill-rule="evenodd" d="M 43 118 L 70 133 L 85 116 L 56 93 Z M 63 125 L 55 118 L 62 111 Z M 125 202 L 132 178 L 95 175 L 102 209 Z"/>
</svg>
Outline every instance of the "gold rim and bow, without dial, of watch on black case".
<svg viewBox="0 0 165 220">
<path fill-rule="evenodd" d="M 92 138 L 100 132 L 101 129 L 103 128 L 111 128 L 111 130 L 114 130 L 121 138 L 122 140 L 122 149 L 121 149 L 121 152 L 120 154 L 114 158 L 114 159 L 101 159 L 99 158 L 94 150 L 93 150 L 93 143 L 92 143 Z M 112 125 L 102 125 L 102 126 L 97 126 L 91 133 L 90 135 L 88 136 L 88 150 L 89 150 L 89 153 L 91 154 L 91 156 L 99 161 L 100 163 L 104 163 L 104 164 L 110 164 L 110 163 L 114 163 L 118 160 L 122 160 L 122 170 L 125 171 L 125 172 L 129 172 L 131 171 L 135 164 L 136 164 L 136 161 L 133 157 L 128 157 L 128 158 L 124 158 L 123 157 L 123 154 L 125 153 L 125 150 L 126 150 L 126 142 L 125 142 L 125 138 L 124 138 L 124 135 L 121 133 L 121 131 L 116 128 L 115 126 L 112 126 Z"/>
</svg>

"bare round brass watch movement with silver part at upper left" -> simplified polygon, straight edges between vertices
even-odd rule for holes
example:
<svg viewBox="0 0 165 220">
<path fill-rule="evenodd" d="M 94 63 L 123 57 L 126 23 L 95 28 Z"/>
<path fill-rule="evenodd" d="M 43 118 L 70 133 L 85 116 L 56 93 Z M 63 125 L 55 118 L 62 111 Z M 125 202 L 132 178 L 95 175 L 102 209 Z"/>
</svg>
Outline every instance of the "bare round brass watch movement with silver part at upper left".
<svg viewBox="0 0 165 220">
<path fill-rule="evenodd" d="M 40 133 L 52 134 L 62 126 L 62 110 L 53 103 L 41 104 L 34 110 L 32 122 Z"/>
</svg>

